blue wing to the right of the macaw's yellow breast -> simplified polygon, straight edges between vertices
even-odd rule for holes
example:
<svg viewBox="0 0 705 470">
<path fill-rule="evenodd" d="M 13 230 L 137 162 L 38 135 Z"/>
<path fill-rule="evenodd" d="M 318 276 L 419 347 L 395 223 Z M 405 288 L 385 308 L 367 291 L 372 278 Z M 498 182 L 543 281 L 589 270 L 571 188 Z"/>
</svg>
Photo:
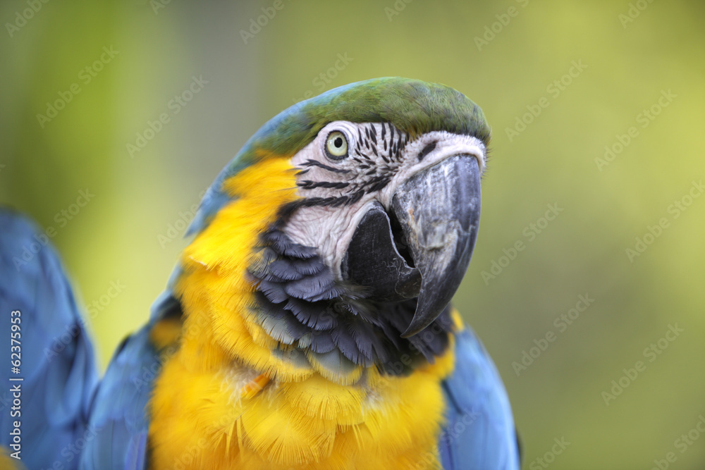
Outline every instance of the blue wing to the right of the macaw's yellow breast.
<svg viewBox="0 0 705 470">
<path fill-rule="evenodd" d="M 446 428 L 439 452 L 446 470 L 519 469 L 507 392 L 482 343 L 465 328 L 456 335 L 455 371 L 443 381 Z"/>
</svg>

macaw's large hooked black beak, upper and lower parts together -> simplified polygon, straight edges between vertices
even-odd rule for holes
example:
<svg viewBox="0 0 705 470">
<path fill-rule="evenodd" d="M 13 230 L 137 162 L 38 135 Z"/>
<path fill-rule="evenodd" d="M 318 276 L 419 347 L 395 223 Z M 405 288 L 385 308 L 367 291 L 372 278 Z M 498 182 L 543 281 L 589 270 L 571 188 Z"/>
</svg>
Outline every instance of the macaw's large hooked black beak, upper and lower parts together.
<svg viewBox="0 0 705 470">
<path fill-rule="evenodd" d="M 381 204 L 357 225 L 343 259 L 345 278 L 381 302 L 417 297 L 404 338 L 429 326 L 465 276 L 477 238 L 480 171 L 472 155 L 456 155 L 402 183 L 391 218 Z"/>
</svg>

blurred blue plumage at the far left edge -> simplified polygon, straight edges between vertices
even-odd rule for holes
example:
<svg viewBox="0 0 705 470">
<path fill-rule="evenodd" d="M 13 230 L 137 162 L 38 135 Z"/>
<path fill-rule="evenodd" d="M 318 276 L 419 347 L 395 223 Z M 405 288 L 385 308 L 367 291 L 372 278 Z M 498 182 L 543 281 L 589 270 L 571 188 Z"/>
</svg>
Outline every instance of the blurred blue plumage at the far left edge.
<svg viewBox="0 0 705 470">
<path fill-rule="evenodd" d="M 10 352 L 12 311 L 20 311 L 21 366 L 0 366 L 0 445 L 21 421 L 23 464 L 75 469 L 97 383 L 92 344 L 71 285 L 47 235 L 19 214 L 0 208 L 0 351 Z M 23 378 L 10 382 L 8 378 Z M 20 384 L 20 415 L 11 414 Z"/>
</svg>

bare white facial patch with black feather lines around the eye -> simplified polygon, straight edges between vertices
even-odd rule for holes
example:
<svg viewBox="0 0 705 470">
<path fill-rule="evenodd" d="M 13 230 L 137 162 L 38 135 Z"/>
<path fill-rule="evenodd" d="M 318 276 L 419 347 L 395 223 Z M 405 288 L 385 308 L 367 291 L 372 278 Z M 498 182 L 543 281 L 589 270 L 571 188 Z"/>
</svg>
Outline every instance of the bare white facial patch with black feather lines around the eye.
<svg viewBox="0 0 705 470">
<path fill-rule="evenodd" d="M 341 132 L 347 141 L 343 158 L 326 152 L 331 132 Z M 334 276 L 341 278 L 341 260 L 367 206 L 379 202 L 388 211 L 401 183 L 463 154 L 474 156 L 484 171 L 486 147 L 477 137 L 432 131 L 410 141 L 388 123 L 329 123 L 291 159 L 300 170 L 298 193 L 305 202 L 285 232 L 301 245 L 317 247 Z"/>
</svg>

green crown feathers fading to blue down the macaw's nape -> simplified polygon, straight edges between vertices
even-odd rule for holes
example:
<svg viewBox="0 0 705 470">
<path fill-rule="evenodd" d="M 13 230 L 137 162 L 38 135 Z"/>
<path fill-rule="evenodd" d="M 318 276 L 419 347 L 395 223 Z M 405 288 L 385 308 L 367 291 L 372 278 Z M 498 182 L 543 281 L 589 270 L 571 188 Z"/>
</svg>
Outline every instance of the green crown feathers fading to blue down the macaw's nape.
<svg viewBox="0 0 705 470">
<path fill-rule="evenodd" d="M 200 232 L 228 202 L 224 180 L 261 155 L 293 156 L 334 120 L 391 123 L 412 138 L 433 130 L 472 135 L 489 143 L 482 109 L 453 88 L 410 78 L 373 78 L 334 88 L 282 111 L 252 135 L 205 194 L 187 235 Z"/>
</svg>

